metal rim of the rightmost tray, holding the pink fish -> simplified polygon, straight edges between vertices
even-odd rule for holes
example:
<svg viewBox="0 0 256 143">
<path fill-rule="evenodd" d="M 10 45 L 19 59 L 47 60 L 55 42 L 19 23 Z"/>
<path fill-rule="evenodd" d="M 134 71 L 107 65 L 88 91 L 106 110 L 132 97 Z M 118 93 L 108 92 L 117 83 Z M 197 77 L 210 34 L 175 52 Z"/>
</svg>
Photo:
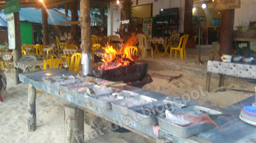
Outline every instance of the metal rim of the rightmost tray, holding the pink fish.
<svg viewBox="0 0 256 143">
<path fill-rule="evenodd" d="M 205 107 L 201 107 L 201 106 L 191 106 L 191 107 L 186 107 L 186 108 L 182 108 L 182 109 L 177 109 L 175 110 L 173 113 L 178 113 L 179 111 L 194 111 L 194 110 L 201 110 L 201 111 L 205 111 L 207 112 L 209 115 L 218 115 L 218 114 L 222 114 L 219 111 L 213 110 L 213 109 L 209 109 L 209 108 L 205 108 Z M 170 133 L 173 133 L 179 137 L 189 137 L 191 135 L 196 135 L 198 133 L 207 131 L 209 129 L 214 128 L 214 125 L 210 125 L 204 122 L 201 122 L 200 124 L 197 125 L 191 125 L 191 126 L 187 126 L 187 127 L 181 127 L 178 126 L 176 124 L 170 123 L 168 121 L 166 121 L 163 117 L 165 117 L 165 113 L 162 113 L 160 115 L 157 116 L 158 119 L 158 125 L 161 129 L 166 130 Z M 217 125 L 221 125 L 222 121 L 217 119 L 213 119 L 213 121 L 217 124 Z"/>
</svg>

